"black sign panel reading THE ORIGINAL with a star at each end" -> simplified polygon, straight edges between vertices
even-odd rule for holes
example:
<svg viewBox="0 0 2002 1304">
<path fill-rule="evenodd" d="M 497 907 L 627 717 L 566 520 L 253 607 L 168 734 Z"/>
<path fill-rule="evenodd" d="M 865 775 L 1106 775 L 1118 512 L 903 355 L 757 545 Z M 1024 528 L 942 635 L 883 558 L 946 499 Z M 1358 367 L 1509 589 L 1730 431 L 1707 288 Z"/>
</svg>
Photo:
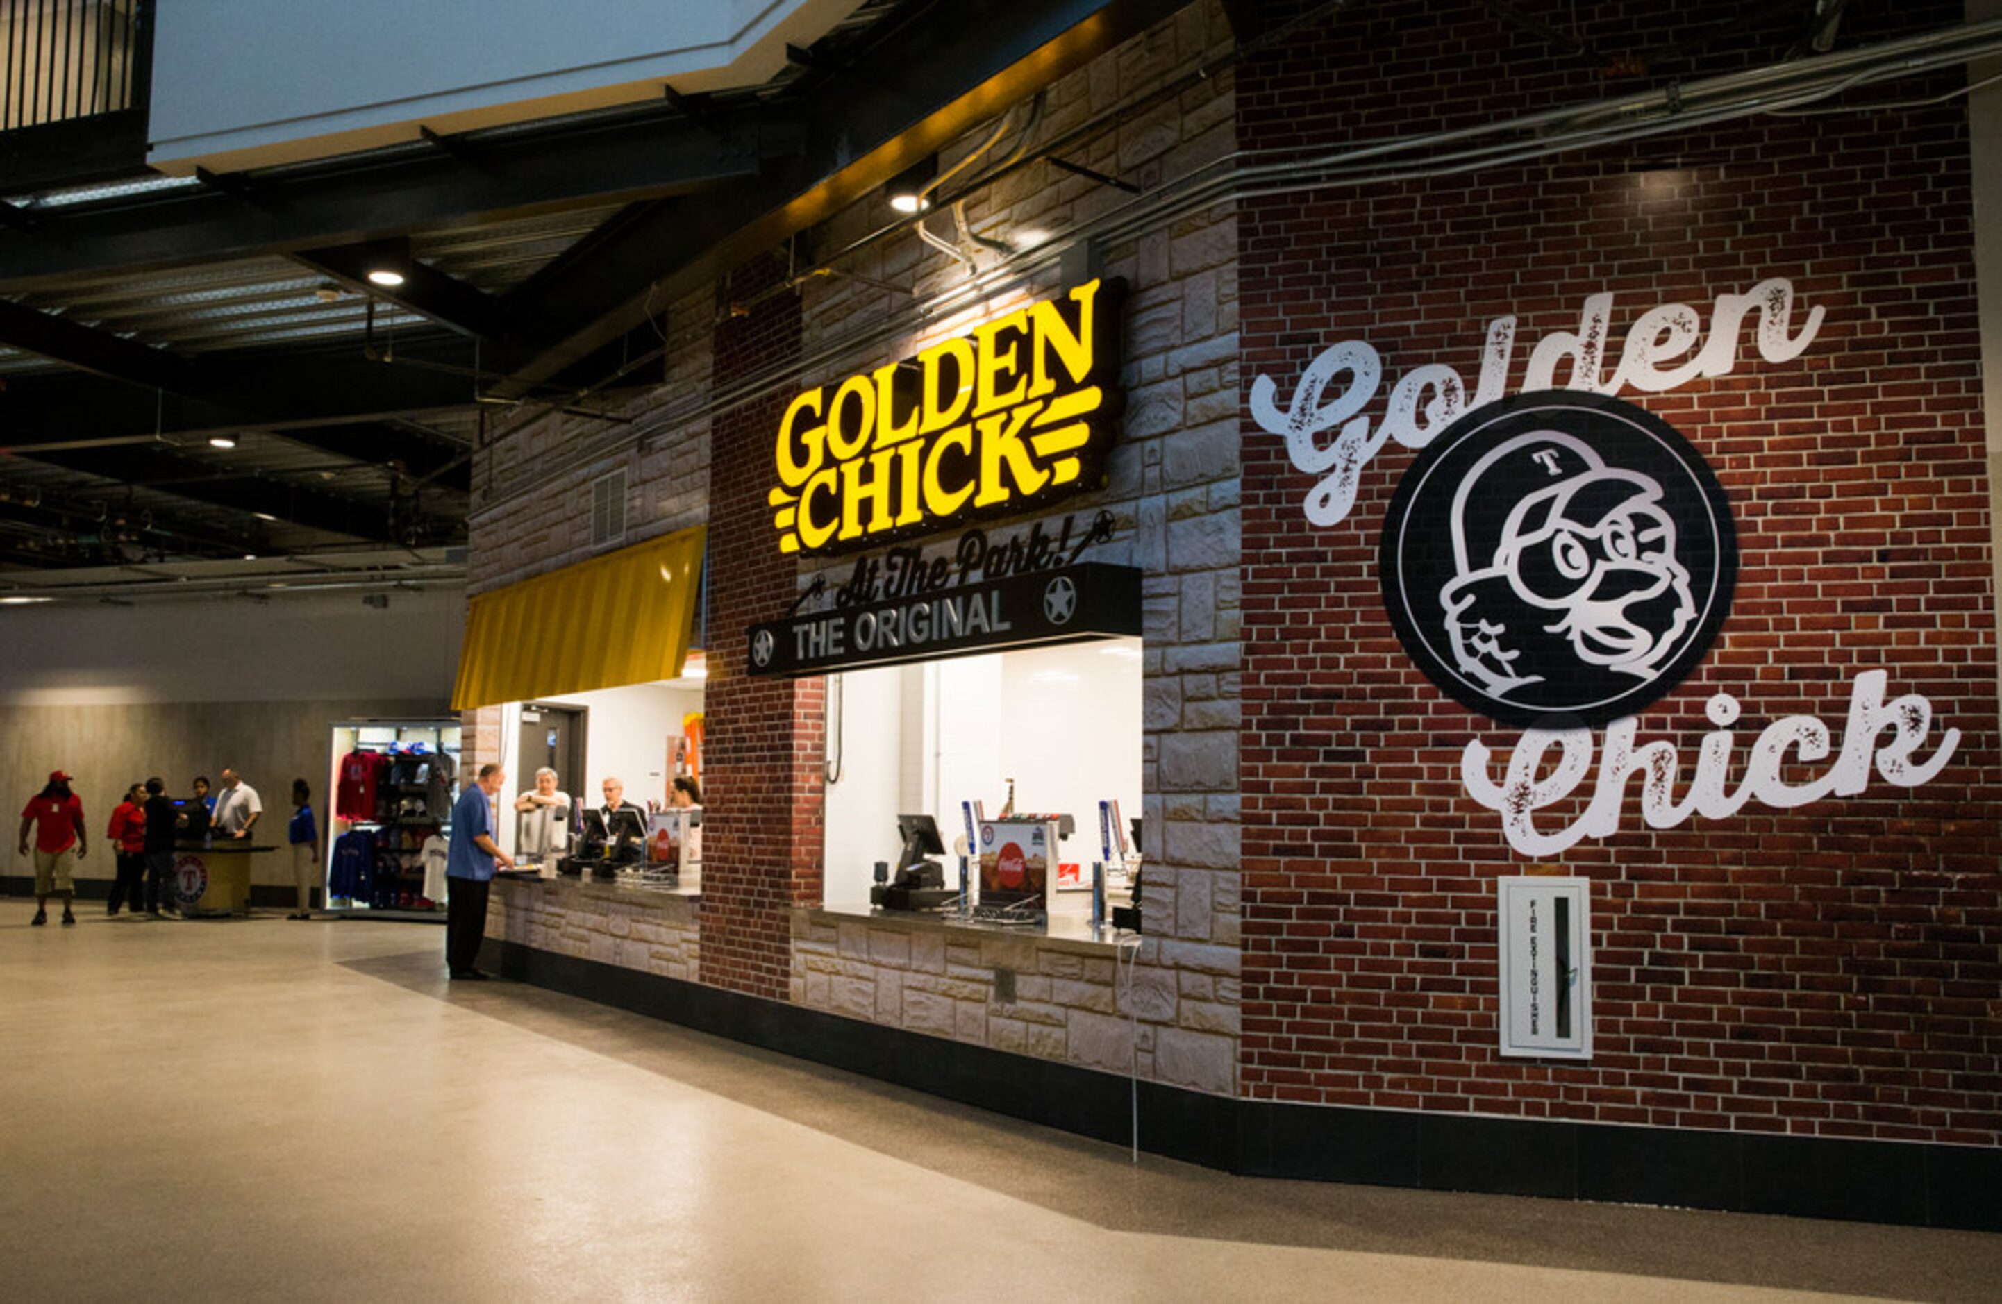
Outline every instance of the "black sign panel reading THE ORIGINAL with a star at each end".
<svg viewBox="0 0 2002 1304">
<path fill-rule="evenodd" d="M 871 665 L 1139 635 L 1139 571 L 1085 561 L 753 625 L 753 675 Z"/>
</svg>

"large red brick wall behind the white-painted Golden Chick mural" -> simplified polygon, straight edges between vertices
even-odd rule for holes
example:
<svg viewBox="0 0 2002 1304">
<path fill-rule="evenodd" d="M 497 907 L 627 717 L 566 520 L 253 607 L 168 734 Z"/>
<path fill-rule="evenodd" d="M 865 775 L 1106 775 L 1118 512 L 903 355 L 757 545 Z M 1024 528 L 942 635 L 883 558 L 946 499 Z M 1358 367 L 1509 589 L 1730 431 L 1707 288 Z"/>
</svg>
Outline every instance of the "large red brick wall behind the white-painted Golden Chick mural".
<svg viewBox="0 0 2002 1304">
<path fill-rule="evenodd" d="M 1736 8 L 1588 6 L 1592 60 L 1485 6 L 1367 6 L 1241 66 L 1239 144 L 1325 148 L 1638 88 L 1598 68 L 1694 48 Z M 1958 6 L 1898 10 L 1912 26 L 1958 18 Z M 1694 62 L 1656 62 L 1718 72 L 1784 46 L 1766 24 Z M 1363 339 L 1385 363 L 1371 417 L 1421 363 L 1455 367 L 1471 389 L 1485 322 L 1506 312 L 1520 316 L 1518 393 L 1534 343 L 1576 331 L 1586 294 L 1618 294 L 1620 341 L 1654 304 L 1698 304 L 1708 327 L 1716 294 L 1792 278 L 1802 312 L 1828 312 L 1800 359 L 1766 363 L 1746 333 L 1732 375 L 1622 395 L 1710 461 L 1742 549 L 1732 617 L 1690 679 L 1640 715 L 1640 739 L 1676 743 L 1688 781 L 1704 703 L 1732 693 L 1736 785 L 1758 729 L 1806 713 L 1840 733 L 1854 675 L 1878 667 L 1892 693 L 1932 699 L 1922 755 L 1946 727 L 1964 735 L 1916 789 L 1872 773 L 1860 797 L 1750 803 L 1662 831 L 1642 825 L 1632 783 L 1620 833 L 1558 859 L 1592 879 L 1596 1054 L 1501 1060 L 1493 881 L 1530 865 L 1467 797 L 1459 757 L 1481 739 L 1506 759 L 1518 731 L 1423 679 L 1385 619 L 1377 531 L 1413 453 L 1387 445 L 1353 513 L 1321 529 L 1301 511 L 1315 477 L 1247 421 L 1247 1096 L 2002 1142 L 2002 771 L 1970 224 L 1960 102 L 1758 118 L 1245 204 L 1245 383 L 1269 375 L 1289 395 L 1325 347 Z"/>
</svg>

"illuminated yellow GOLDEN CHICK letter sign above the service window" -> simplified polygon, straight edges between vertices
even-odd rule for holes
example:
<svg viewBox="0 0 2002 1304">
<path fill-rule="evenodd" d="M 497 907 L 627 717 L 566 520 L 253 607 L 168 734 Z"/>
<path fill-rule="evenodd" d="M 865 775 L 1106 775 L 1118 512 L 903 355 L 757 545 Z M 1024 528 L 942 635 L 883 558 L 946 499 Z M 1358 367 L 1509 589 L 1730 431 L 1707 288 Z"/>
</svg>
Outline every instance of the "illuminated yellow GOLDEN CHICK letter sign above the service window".
<svg viewBox="0 0 2002 1304">
<path fill-rule="evenodd" d="M 843 553 L 1099 489 L 1125 395 L 1119 280 L 793 399 L 771 491 L 783 553 Z"/>
</svg>

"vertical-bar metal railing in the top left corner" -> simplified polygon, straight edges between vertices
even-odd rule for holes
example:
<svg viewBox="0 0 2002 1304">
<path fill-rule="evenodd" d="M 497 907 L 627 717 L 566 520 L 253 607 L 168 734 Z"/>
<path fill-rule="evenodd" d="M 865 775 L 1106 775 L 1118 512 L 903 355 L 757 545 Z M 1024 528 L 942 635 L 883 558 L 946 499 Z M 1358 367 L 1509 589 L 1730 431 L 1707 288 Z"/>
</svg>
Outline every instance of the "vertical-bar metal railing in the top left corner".
<svg viewBox="0 0 2002 1304">
<path fill-rule="evenodd" d="M 0 132 L 136 108 L 152 0 L 0 0 Z"/>
</svg>

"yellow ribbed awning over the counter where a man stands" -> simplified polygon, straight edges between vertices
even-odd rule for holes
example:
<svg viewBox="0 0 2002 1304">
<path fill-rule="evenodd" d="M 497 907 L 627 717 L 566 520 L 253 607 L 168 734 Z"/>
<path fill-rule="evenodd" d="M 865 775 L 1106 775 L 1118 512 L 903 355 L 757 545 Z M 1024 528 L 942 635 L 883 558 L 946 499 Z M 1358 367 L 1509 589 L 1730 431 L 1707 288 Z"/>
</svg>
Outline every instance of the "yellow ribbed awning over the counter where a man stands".
<svg viewBox="0 0 2002 1304">
<path fill-rule="evenodd" d="M 474 597 L 452 709 L 677 679 L 703 535 L 685 529 Z"/>
</svg>

